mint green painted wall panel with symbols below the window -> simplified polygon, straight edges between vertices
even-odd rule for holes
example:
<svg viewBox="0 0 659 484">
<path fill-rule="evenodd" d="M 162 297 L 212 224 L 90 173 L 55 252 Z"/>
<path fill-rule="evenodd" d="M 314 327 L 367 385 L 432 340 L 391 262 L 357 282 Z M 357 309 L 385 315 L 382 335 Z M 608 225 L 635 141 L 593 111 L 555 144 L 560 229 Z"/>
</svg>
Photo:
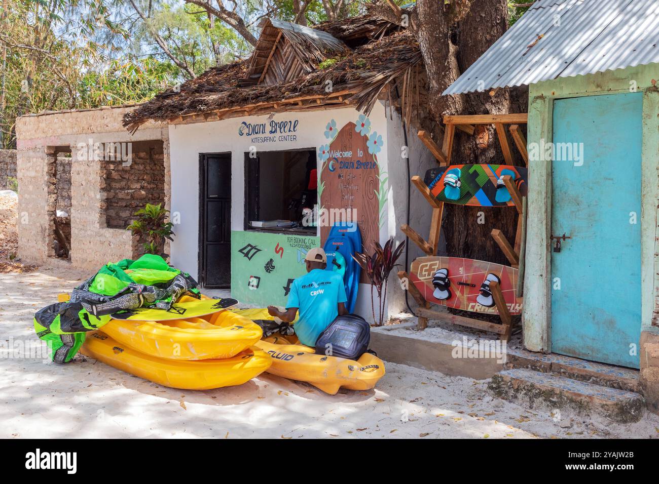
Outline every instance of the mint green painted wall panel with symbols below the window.
<svg viewBox="0 0 659 484">
<path fill-rule="evenodd" d="M 320 237 L 233 230 L 231 297 L 258 306 L 285 306 L 293 280 L 306 274 L 304 256 Z"/>
</svg>

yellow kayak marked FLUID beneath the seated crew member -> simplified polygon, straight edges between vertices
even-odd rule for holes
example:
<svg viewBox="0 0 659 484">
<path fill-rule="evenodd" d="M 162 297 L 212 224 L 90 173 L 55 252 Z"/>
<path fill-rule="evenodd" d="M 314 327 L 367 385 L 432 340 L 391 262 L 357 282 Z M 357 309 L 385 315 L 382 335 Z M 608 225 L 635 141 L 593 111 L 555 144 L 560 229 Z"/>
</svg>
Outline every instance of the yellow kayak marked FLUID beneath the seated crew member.
<svg viewBox="0 0 659 484">
<path fill-rule="evenodd" d="M 283 336 L 270 336 L 254 344 L 272 356 L 268 373 L 290 380 L 306 381 L 331 395 L 339 388 L 370 390 L 384 377 L 384 362 L 364 353 L 359 360 L 316 354 L 314 348 L 290 344 Z"/>
</svg>

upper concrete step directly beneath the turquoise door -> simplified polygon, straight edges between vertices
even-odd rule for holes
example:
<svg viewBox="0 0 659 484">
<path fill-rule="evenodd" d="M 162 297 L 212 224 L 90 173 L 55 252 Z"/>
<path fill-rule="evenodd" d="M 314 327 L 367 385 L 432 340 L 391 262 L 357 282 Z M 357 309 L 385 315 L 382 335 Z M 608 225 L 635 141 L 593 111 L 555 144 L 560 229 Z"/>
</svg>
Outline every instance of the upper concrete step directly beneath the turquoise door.
<svg viewBox="0 0 659 484">
<path fill-rule="evenodd" d="M 507 354 L 505 369 L 526 368 L 542 373 L 554 373 L 573 380 L 594 383 L 629 392 L 641 392 L 640 372 L 605 363 L 588 362 L 559 354 L 533 353 L 527 350 L 511 350 Z"/>
</svg>

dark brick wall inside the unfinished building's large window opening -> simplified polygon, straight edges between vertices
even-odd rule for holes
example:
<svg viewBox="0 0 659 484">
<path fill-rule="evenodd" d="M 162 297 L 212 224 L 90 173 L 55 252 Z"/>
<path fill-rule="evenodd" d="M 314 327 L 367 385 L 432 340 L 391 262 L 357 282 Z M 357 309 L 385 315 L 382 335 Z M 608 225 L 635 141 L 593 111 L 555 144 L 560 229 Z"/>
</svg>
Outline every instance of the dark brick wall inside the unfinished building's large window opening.
<svg viewBox="0 0 659 484">
<path fill-rule="evenodd" d="M 161 141 L 135 143 L 130 165 L 101 162 L 101 210 L 110 229 L 125 229 L 146 203 L 165 205 L 165 163 Z"/>
</svg>

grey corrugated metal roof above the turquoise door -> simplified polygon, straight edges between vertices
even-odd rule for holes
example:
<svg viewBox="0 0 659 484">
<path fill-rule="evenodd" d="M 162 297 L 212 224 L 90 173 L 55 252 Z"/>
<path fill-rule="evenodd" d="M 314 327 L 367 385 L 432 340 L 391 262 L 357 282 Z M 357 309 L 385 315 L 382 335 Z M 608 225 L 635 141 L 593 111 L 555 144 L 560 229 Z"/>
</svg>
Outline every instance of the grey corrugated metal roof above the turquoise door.
<svg viewBox="0 0 659 484">
<path fill-rule="evenodd" d="M 536 0 L 444 94 L 659 63 L 658 0 Z"/>
</svg>

